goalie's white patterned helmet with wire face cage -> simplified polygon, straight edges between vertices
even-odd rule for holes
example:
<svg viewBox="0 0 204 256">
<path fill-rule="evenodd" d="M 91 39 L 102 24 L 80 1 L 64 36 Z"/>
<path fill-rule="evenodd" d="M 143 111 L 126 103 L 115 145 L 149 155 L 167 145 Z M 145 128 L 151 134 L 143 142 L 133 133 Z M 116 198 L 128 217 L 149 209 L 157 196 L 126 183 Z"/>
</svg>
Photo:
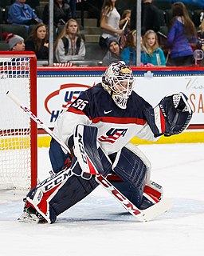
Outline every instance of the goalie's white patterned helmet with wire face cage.
<svg viewBox="0 0 204 256">
<path fill-rule="evenodd" d="M 126 109 L 134 86 L 132 70 L 123 61 L 112 62 L 102 75 L 102 86 L 121 109 Z"/>
</svg>

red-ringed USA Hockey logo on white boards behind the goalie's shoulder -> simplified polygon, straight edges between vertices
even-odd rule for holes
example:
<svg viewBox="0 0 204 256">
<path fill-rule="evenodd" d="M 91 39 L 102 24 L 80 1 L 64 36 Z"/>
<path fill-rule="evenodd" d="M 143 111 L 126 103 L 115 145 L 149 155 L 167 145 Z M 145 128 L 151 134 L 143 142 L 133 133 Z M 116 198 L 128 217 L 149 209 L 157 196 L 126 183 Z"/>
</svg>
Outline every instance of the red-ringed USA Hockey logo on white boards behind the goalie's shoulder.
<svg viewBox="0 0 204 256">
<path fill-rule="evenodd" d="M 94 86 L 93 84 L 92 86 Z M 59 90 L 53 91 L 45 98 L 45 110 L 50 114 L 49 122 L 55 122 L 59 114 L 66 110 L 79 96 L 92 86 L 79 83 L 66 83 L 60 86 Z M 56 100 L 57 98 L 57 100 Z M 56 104 L 61 102 L 61 105 Z M 61 106 L 61 109 L 59 109 Z"/>
</svg>

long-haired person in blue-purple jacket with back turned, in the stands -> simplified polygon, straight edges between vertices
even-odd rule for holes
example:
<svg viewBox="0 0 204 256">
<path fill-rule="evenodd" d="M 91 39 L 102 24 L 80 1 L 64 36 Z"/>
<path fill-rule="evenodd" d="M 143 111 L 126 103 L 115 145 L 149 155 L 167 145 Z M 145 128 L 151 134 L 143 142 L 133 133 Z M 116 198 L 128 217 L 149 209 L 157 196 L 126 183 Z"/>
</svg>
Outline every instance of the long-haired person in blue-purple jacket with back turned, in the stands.
<svg viewBox="0 0 204 256">
<path fill-rule="evenodd" d="M 196 43 L 196 30 L 186 6 L 182 2 L 172 5 L 172 25 L 167 35 L 169 58 L 167 66 L 192 66 L 194 54 L 190 44 Z"/>
</svg>

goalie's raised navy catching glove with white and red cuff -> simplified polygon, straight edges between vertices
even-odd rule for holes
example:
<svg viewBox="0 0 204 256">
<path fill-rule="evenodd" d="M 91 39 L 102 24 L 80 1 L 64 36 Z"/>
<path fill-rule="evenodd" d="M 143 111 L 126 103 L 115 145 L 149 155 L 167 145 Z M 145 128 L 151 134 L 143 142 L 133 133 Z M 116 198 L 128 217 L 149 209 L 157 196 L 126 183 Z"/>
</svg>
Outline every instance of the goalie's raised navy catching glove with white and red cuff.
<svg viewBox="0 0 204 256">
<path fill-rule="evenodd" d="M 151 124 L 154 123 L 151 130 L 153 130 L 155 137 L 163 134 L 164 136 L 171 136 L 182 133 L 189 125 L 193 114 L 188 98 L 183 93 L 164 97 L 153 111 L 154 114 L 147 110 L 146 114 L 148 118 L 155 118 L 155 122 L 151 122 Z"/>
</svg>

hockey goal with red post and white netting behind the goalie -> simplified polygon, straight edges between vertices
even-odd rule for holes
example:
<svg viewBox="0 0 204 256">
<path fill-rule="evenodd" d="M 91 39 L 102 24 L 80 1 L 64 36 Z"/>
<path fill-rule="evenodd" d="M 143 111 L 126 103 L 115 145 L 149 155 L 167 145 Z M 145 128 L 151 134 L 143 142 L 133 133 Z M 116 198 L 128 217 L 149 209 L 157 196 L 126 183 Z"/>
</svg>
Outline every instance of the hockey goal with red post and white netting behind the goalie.
<svg viewBox="0 0 204 256">
<path fill-rule="evenodd" d="M 6 92 L 37 114 L 37 61 L 32 52 L 0 52 L 0 189 L 37 182 L 37 125 Z"/>
</svg>

